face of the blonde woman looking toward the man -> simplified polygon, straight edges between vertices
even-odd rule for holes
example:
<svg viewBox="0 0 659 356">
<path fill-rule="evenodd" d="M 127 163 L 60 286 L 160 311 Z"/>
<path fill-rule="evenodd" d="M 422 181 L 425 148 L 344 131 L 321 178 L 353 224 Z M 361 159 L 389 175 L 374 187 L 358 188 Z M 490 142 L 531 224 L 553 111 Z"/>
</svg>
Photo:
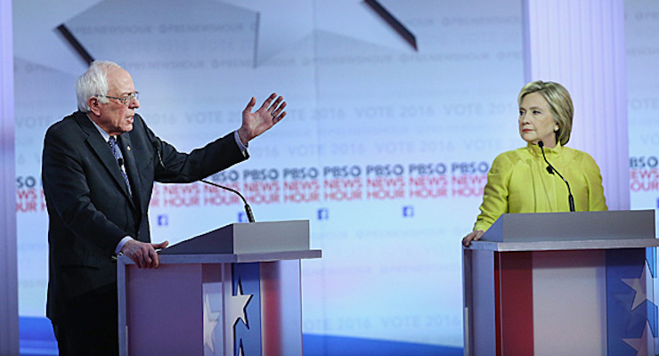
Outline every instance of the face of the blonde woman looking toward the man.
<svg viewBox="0 0 659 356">
<path fill-rule="evenodd" d="M 541 93 L 526 94 L 519 105 L 519 135 L 525 142 L 556 147 L 558 125 Z"/>
</svg>

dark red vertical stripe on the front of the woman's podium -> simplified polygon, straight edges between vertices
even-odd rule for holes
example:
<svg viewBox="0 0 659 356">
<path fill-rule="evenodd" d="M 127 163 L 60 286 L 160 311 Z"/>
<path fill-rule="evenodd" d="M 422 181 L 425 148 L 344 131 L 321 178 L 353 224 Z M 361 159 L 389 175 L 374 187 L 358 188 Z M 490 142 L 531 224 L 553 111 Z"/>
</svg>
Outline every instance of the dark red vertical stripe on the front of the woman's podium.
<svg viewBox="0 0 659 356">
<path fill-rule="evenodd" d="M 532 256 L 494 253 L 497 356 L 533 356 Z"/>
</svg>

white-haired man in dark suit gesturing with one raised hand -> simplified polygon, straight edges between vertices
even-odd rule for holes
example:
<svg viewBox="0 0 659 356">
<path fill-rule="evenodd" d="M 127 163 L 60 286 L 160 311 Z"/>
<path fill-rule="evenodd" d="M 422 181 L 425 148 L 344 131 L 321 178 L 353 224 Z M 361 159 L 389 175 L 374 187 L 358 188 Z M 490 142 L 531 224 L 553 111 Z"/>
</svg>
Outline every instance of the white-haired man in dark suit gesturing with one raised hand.
<svg viewBox="0 0 659 356">
<path fill-rule="evenodd" d="M 205 147 L 181 153 L 134 109 L 133 79 L 112 62 L 94 62 L 76 85 L 78 111 L 45 134 L 42 179 L 49 216 L 46 314 L 60 355 L 118 354 L 119 254 L 158 268 L 147 215 L 153 182 L 195 182 L 248 158 L 248 142 L 286 115 L 272 94 L 242 125 Z M 276 99 L 275 99 L 276 98 Z"/>
</svg>

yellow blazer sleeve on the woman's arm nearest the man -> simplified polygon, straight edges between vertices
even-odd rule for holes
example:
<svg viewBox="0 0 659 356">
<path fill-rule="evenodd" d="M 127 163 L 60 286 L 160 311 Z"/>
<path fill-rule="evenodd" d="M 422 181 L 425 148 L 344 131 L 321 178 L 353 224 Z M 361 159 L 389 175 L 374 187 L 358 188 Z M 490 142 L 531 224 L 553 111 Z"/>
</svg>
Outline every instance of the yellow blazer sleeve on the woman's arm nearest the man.
<svg viewBox="0 0 659 356">
<path fill-rule="evenodd" d="M 512 166 L 507 157 L 501 154 L 494 158 L 487 174 L 481 214 L 476 218 L 475 231 L 487 231 L 501 214 L 508 213 L 508 182 L 511 172 Z"/>
</svg>

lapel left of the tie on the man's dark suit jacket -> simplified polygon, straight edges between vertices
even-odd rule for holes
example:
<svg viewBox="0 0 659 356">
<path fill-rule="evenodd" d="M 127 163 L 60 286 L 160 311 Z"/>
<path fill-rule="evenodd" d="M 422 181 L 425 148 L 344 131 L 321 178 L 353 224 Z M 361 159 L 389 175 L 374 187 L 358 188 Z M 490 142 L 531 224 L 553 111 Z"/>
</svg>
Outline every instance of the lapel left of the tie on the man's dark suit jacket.
<svg viewBox="0 0 659 356">
<path fill-rule="evenodd" d="M 87 134 L 87 144 L 94 151 L 96 156 L 98 156 L 102 166 L 108 171 L 112 180 L 117 184 L 118 189 L 123 191 L 126 199 L 130 202 L 130 205 L 134 207 L 133 199 L 130 198 L 126 182 L 124 182 L 124 177 L 121 174 L 121 168 L 119 168 L 117 164 L 117 159 L 112 155 L 112 150 L 110 150 L 108 142 L 103 140 L 102 135 L 98 132 L 94 124 L 92 124 L 89 117 L 87 117 L 85 113 L 81 114 L 82 115 L 76 116 L 76 121 Z"/>
</svg>

